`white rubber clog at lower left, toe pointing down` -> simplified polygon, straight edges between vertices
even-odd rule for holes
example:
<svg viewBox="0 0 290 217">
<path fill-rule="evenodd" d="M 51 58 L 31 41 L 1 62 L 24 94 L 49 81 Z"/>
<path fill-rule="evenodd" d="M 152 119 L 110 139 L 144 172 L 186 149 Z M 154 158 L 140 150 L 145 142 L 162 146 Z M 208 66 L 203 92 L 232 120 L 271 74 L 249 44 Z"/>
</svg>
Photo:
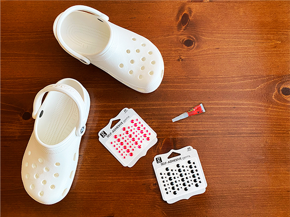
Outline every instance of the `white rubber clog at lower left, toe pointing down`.
<svg viewBox="0 0 290 217">
<path fill-rule="evenodd" d="M 42 102 L 46 92 L 49 92 Z M 42 89 L 34 100 L 34 131 L 25 150 L 21 176 L 28 195 L 54 204 L 69 192 L 90 107 L 87 90 L 74 79 Z"/>
</svg>

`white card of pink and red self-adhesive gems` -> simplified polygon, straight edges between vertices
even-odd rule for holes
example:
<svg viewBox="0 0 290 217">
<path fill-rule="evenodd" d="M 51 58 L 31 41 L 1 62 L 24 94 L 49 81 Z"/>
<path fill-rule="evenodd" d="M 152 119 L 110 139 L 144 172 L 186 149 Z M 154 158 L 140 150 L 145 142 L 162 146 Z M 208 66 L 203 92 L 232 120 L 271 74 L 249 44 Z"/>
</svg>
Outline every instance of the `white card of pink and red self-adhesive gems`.
<svg viewBox="0 0 290 217">
<path fill-rule="evenodd" d="M 119 120 L 111 127 L 112 122 Z M 132 109 L 123 110 L 99 132 L 100 142 L 123 165 L 132 167 L 157 142 L 156 133 Z"/>
</svg>

